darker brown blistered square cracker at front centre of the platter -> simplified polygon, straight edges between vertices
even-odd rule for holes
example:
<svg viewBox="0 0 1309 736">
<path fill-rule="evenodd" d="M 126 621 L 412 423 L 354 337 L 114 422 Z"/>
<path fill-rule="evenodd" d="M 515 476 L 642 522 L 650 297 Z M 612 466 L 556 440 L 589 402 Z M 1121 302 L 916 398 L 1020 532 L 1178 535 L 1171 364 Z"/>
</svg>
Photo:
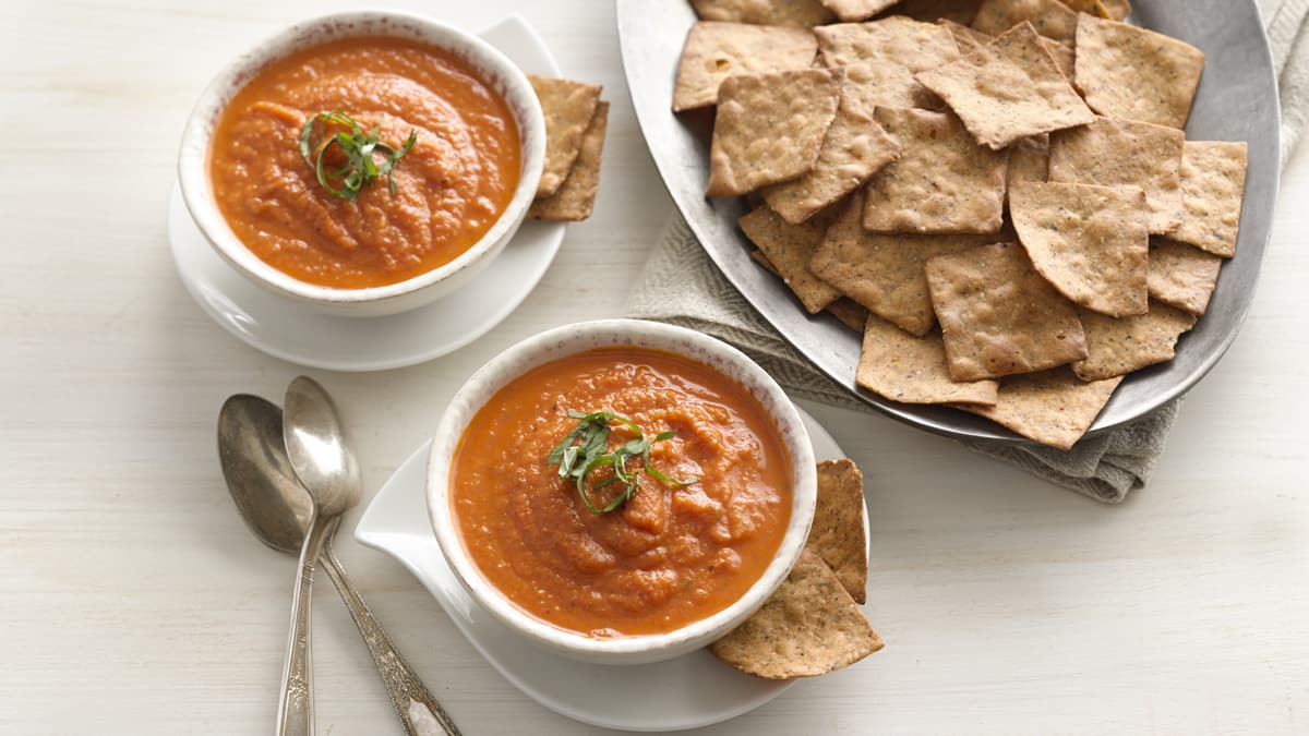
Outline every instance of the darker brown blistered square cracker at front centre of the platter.
<svg viewBox="0 0 1309 736">
<path fill-rule="evenodd" d="M 937 255 L 925 268 L 956 381 L 1030 373 L 1086 358 L 1077 310 L 1031 267 L 1018 244 Z"/>
</svg>

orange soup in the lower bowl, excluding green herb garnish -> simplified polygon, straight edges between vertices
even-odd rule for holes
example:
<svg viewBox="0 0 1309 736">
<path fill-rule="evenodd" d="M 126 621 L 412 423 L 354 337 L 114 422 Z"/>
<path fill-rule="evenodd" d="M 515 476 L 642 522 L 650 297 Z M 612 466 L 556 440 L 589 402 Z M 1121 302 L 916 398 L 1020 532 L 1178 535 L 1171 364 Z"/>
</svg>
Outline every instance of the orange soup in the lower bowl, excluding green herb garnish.
<svg viewBox="0 0 1309 736">
<path fill-rule="evenodd" d="M 546 457 L 577 419 L 611 411 L 654 443 L 617 511 L 592 513 Z M 615 426 L 609 447 L 631 439 Z M 639 460 L 628 469 L 637 468 Z M 759 402 L 690 359 L 600 348 L 534 368 L 459 440 L 450 512 L 483 575 L 518 608 L 594 638 L 656 634 L 723 610 L 763 574 L 791 517 L 791 458 Z"/>
</svg>

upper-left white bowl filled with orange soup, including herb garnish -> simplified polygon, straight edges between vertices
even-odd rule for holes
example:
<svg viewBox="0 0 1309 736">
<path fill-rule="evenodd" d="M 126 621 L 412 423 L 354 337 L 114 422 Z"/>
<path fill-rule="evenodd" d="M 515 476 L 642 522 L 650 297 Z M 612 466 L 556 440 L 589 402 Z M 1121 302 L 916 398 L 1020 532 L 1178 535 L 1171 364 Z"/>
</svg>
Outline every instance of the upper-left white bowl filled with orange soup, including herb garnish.
<svg viewBox="0 0 1309 736">
<path fill-rule="evenodd" d="M 346 316 L 463 285 L 537 191 L 546 128 L 526 76 L 419 16 L 300 22 L 229 64 L 182 136 L 200 232 L 267 289 Z"/>
</svg>

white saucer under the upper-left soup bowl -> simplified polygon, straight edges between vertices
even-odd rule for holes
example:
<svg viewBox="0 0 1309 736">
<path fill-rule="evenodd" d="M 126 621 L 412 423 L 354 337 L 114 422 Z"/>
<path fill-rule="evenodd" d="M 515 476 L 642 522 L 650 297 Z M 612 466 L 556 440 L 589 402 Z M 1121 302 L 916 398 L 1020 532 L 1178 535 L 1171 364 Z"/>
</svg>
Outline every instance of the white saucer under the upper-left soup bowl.
<svg viewBox="0 0 1309 736">
<path fill-rule="evenodd" d="M 559 76 L 550 50 L 518 16 L 479 34 L 525 72 Z M 535 288 L 565 227 L 524 223 L 471 283 L 432 304 L 389 317 L 336 317 L 267 292 L 233 270 L 200 234 L 174 186 L 169 241 L 178 275 L 196 304 L 249 346 L 330 371 L 414 365 L 469 344 L 499 325 Z"/>
</svg>

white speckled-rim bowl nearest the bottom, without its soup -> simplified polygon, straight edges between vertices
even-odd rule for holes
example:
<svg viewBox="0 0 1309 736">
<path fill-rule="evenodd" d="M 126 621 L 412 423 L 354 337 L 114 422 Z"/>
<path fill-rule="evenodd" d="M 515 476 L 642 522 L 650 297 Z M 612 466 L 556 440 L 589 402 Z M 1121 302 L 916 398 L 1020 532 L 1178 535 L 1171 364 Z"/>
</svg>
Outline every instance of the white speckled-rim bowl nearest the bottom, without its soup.
<svg viewBox="0 0 1309 736">
<path fill-rule="evenodd" d="M 665 634 L 594 639 L 546 623 L 517 608 L 469 559 L 450 513 L 449 471 L 459 437 L 496 392 L 533 367 L 565 355 L 611 346 L 639 346 L 683 355 L 734 378 L 776 424 L 792 461 L 791 520 L 772 562 L 728 608 Z M 558 327 L 501 352 L 470 377 L 441 416 L 428 457 L 427 509 L 436 541 L 456 576 L 503 623 L 565 656 L 601 664 L 643 664 L 670 659 L 721 638 L 755 612 L 800 557 L 813 521 L 818 486 L 813 448 L 795 405 L 781 386 L 741 351 L 700 333 L 639 320 L 603 320 Z"/>
</svg>

